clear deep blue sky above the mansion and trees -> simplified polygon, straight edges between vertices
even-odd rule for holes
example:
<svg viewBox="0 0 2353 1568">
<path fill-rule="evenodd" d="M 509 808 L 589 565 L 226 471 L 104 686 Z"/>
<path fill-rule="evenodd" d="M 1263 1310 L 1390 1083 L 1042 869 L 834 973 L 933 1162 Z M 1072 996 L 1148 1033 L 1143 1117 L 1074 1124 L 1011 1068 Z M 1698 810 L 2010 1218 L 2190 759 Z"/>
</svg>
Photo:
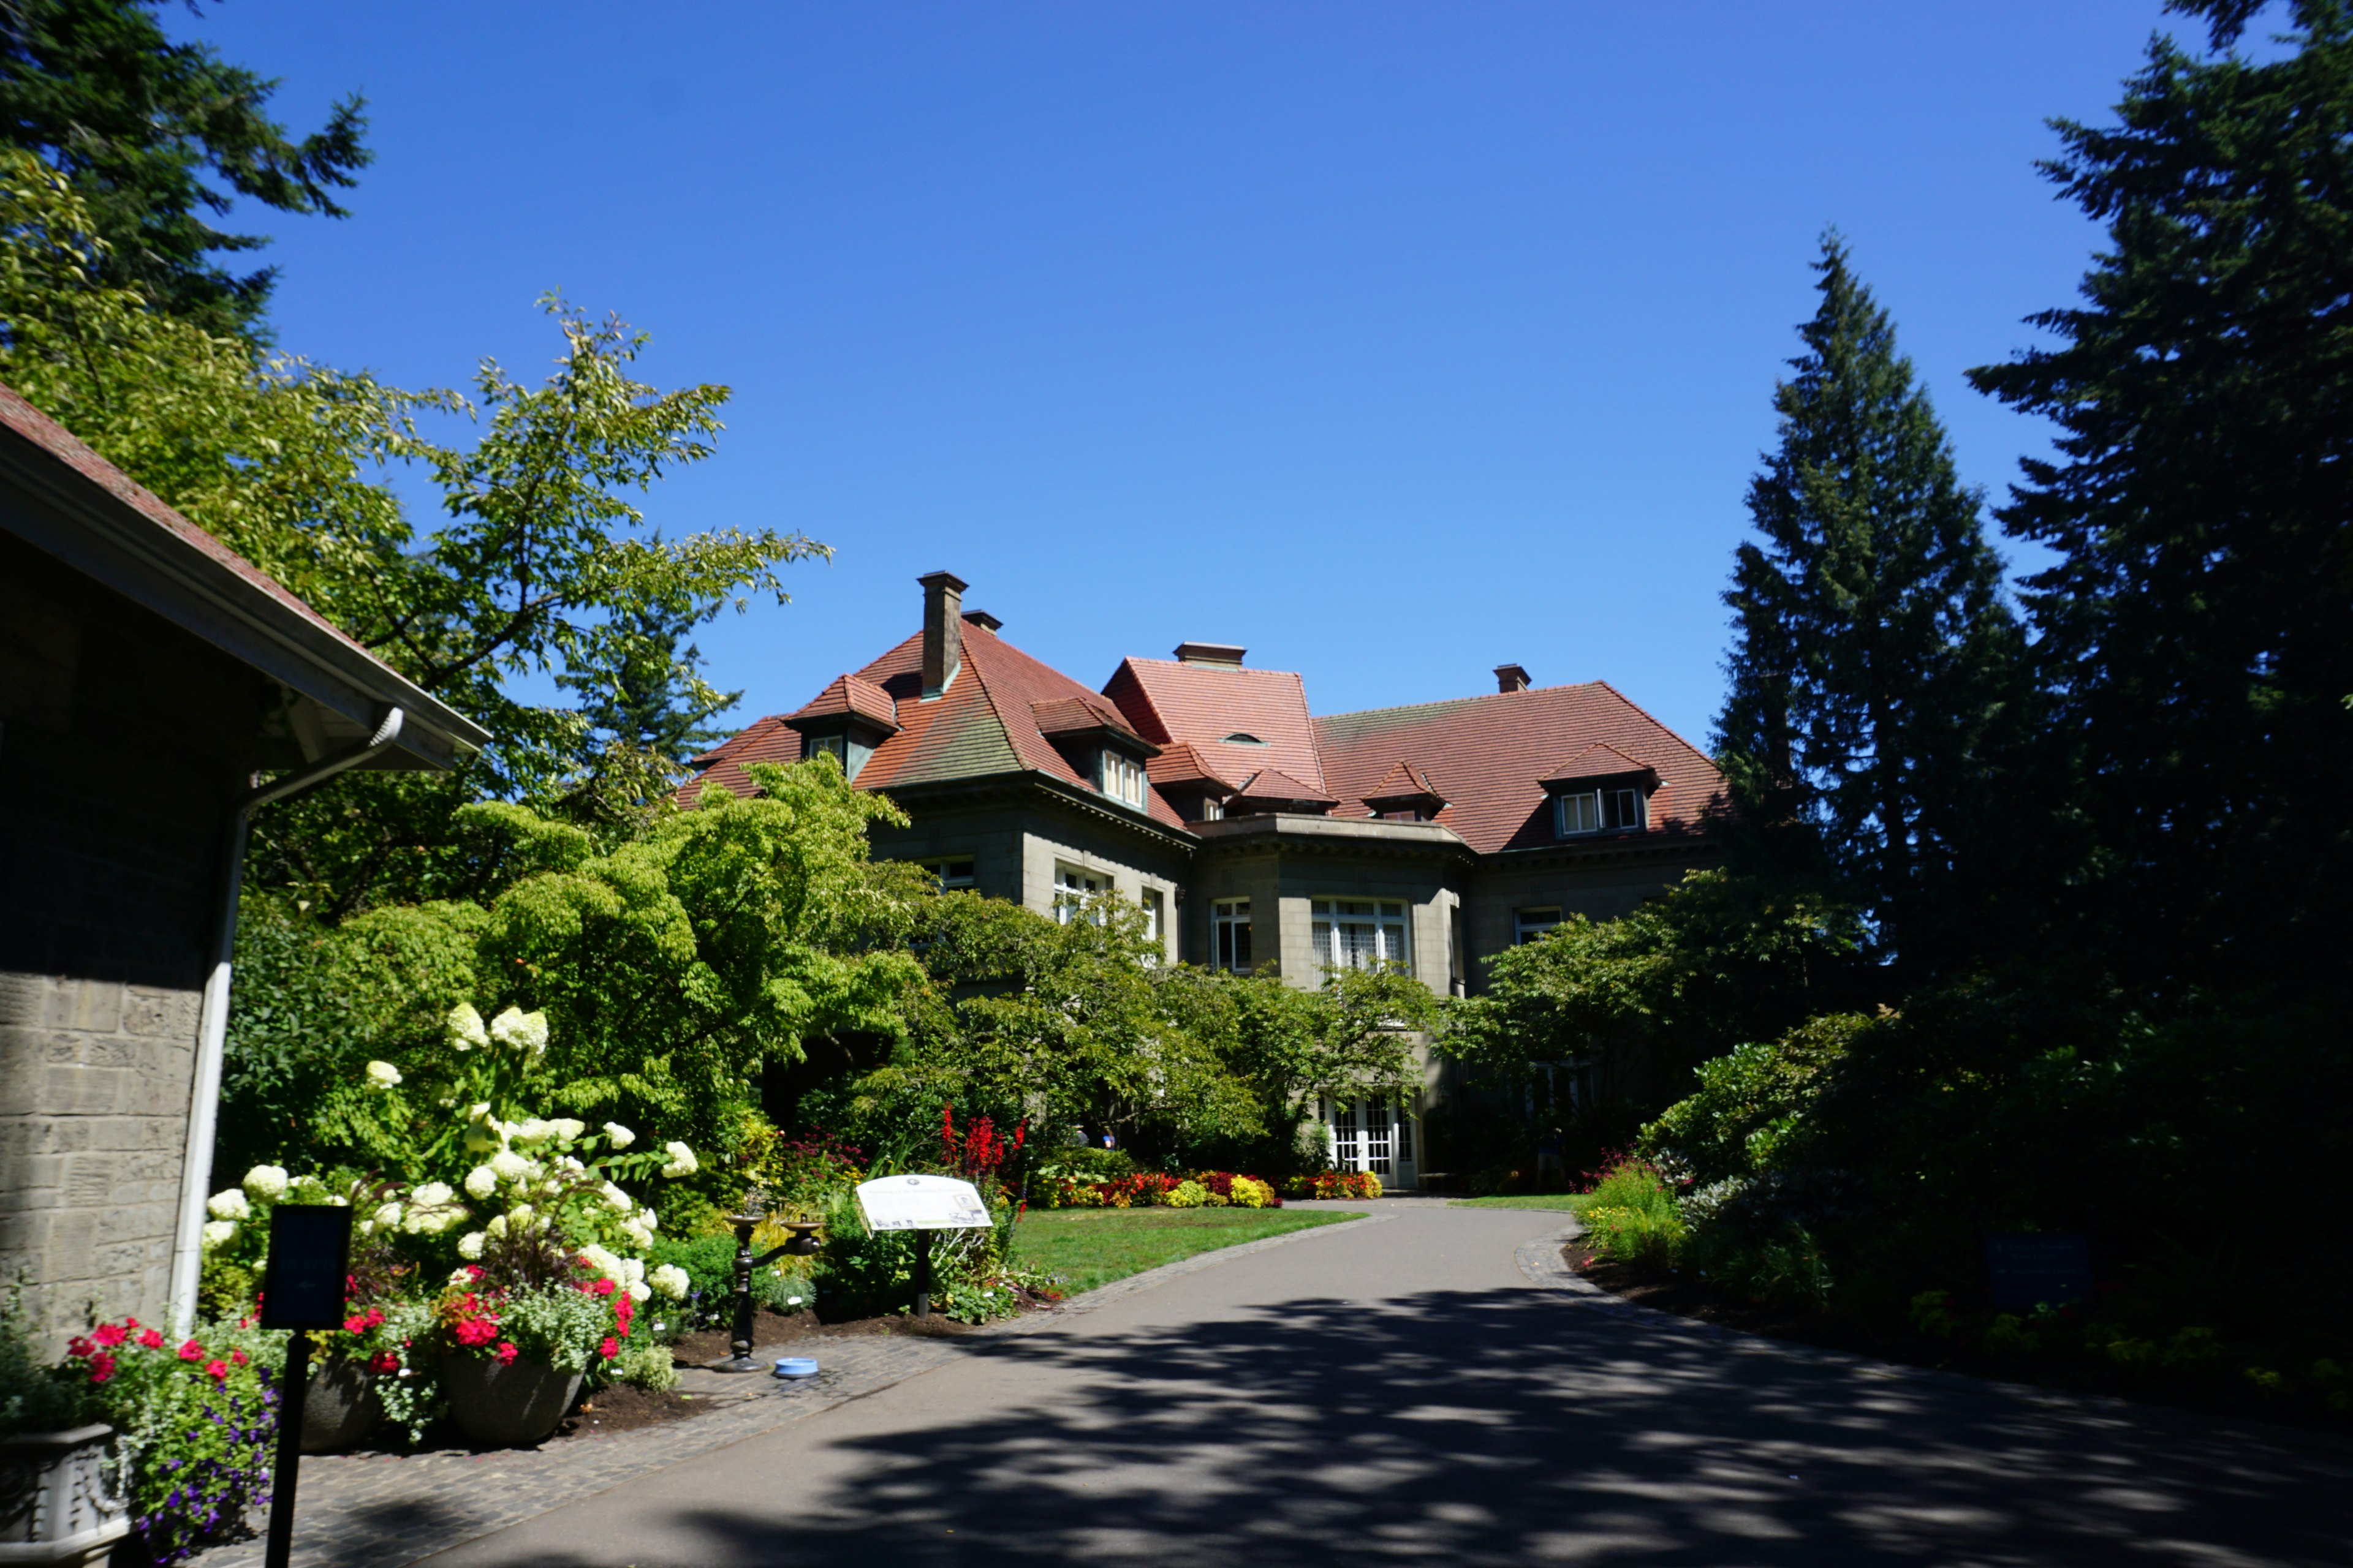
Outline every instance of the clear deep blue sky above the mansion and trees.
<svg viewBox="0 0 2353 1568">
<path fill-rule="evenodd" d="M 539 376 L 544 289 L 734 388 L 668 534 L 802 529 L 699 632 L 736 722 L 918 623 L 922 571 L 1087 684 L 1186 637 L 1320 712 L 1609 679 L 1706 743 L 1769 393 L 1838 223 L 1995 496 L 1962 369 L 2097 233 L 2033 162 L 2158 0 L 496 5 L 167 12 L 313 127 L 351 221 L 252 216 L 280 341 Z M 2186 28 L 2184 28 L 2186 31 Z"/>
</svg>

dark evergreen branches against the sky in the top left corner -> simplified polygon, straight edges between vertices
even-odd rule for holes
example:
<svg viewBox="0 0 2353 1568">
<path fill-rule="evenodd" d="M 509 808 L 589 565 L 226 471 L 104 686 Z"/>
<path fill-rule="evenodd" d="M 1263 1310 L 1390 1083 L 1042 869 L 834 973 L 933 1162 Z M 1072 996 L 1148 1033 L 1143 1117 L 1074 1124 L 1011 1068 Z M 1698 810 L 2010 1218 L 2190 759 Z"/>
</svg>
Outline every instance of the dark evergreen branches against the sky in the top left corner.
<svg viewBox="0 0 2353 1568">
<path fill-rule="evenodd" d="M 212 219 L 238 197 L 346 216 L 332 193 L 372 158 L 360 141 L 365 103 L 344 99 L 320 132 L 294 141 L 264 113 L 278 82 L 226 63 L 212 45 L 172 42 L 158 9 L 160 0 L 12 0 L 0 12 L 0 146 L 73 181 L 108 247 L 104 282 L 207 331 L 254 336 L 275 268 L 235 275 L 212 256 L 268 240 Z"/>
</svg>

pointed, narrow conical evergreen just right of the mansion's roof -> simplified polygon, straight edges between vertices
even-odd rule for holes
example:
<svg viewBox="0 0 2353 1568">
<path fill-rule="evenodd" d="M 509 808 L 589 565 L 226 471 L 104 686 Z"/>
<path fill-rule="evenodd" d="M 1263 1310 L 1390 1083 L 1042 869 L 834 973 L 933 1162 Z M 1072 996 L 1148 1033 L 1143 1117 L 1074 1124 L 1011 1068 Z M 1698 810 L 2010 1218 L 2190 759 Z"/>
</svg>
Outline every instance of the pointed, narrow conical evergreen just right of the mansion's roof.
<svg viewBox="0 0 2353 1568">
<path fill-rule="evenodd" d="M 1979 498 L 1894 324 L 1838 235 L 1814 266 L 1821 308 L 1774 388 L 1779 449 L 1748 487 L 1762 541 L 1741 545 L 1725 595 L 1737 632 L 1715 741 L 1734 863 L 1826 877 L 1882 957 L 1922 976 L 1958 940 L 2019 637 Z"/>
</svg>

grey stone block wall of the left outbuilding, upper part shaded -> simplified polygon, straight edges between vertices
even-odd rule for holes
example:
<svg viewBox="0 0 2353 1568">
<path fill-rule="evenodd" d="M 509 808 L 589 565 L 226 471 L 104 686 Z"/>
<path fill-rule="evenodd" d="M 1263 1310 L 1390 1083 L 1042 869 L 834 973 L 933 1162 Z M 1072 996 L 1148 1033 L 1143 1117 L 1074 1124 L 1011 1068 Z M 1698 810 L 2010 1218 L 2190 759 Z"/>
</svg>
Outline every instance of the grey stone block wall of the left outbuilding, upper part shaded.
<svg viewBox="0 0 2353 1568">
<path fill-rule="evenodd" d="M 266 682 L 0 534 L 0 1276 L 165 1312 L 228 813 Z"/>
</svg>

